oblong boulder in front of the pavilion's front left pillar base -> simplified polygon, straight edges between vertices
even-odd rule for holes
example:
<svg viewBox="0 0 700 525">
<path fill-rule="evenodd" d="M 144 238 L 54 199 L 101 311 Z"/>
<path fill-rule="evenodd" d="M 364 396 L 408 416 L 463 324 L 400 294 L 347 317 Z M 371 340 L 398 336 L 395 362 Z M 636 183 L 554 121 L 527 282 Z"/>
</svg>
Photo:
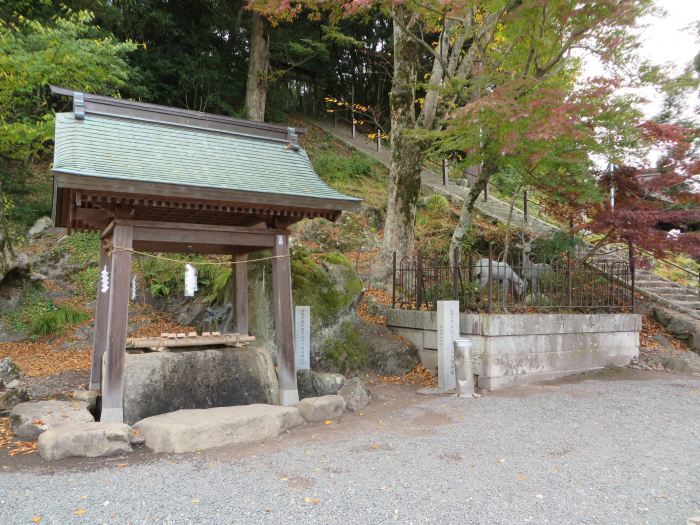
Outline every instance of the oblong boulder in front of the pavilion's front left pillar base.
<svg viewBox="0 0 700 525">
<path fill-rule="evenodd" d="M 131 452 L 131 428 L 124 423 L 78 423 L 48 429 L 39 436 L 46 460 L 96 458 Z"/>
</svg>

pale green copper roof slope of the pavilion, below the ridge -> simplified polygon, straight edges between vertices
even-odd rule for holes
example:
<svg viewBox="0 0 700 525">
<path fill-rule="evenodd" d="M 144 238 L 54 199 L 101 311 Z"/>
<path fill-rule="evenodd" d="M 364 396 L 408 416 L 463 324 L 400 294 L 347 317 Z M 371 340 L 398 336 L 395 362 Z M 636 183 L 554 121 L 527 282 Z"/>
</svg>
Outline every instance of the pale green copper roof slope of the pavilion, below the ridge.
<svg viewBox="0 0 700 525">
<path fill-rule="evenodd" d="M 54 171 L 354 204 L 323 182 L 306 152 L 264 137 L 128 117 L 56 115 Z M 341 204 L 341 203 L 339 203 Z M 341 206 L 342 207 L 342 206 Z"/>
</svg>

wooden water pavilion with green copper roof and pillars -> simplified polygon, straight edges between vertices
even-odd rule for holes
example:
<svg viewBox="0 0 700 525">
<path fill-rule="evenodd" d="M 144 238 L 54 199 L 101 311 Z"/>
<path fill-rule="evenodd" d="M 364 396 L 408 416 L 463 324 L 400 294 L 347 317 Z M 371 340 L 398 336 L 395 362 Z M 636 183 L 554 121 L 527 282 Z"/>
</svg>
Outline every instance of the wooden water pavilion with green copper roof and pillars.
<svg viewBox="0 0 700 525">
<path fill-rule="evenodd" d="M 100 268 L 110 278 L 97 294 L 90 377 L 102 390 L 101 420 L 123 419 L 131 250 L 231 255 L 233 326 L 247 334 L 240 261 L 271 249 L 280 404 L 296 404 L 289 227 L 335 221 L 359 199 L 316 175 L 297 143 L 303 130 L 52 91 L 73 97 L 73 112 L 56 115 L 54 220 L 69 232 L 102 232 Z"/>
</svg>

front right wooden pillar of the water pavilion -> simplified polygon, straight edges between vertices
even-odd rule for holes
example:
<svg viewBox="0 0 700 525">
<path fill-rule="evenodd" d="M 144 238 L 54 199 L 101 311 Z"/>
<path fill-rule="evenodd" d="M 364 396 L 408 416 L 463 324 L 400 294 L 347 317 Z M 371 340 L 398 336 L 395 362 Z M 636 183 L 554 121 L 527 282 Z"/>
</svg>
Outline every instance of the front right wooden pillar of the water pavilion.
<svg viewBox="0 0 700 525">
<path fill-rule="evenodd" d="M 299 402 L 294 367 L 294 325 L 292 305 L 292 268 L 289 261 L 289 236 L 275 235 L 272 254 L 272 300 L 275 310 L 275 342 L 277 343 L 280 404 Z"/>
</svg>

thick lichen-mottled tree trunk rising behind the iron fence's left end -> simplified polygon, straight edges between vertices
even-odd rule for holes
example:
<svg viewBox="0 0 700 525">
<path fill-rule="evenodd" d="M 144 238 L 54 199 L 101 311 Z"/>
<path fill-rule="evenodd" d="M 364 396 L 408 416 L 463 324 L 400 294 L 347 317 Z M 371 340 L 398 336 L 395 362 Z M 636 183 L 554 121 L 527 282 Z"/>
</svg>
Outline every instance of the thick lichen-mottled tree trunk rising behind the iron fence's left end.
<svg viewBox="0 0 700 525">
<path fill-rule="evenodd" d="M 412 255 L 415 248 L 416 206 L 420 195 L 423 147 L 413 137 L 416 127 L 416 80 L 419 45 L 401 26 L 411 25 L 411 12 L 397 5 L 394 23 L 394 77 L 391 85 L 391 166 L 382 261 L 384 278 L 391 268 L 391 257 Z"/>
</svg>

